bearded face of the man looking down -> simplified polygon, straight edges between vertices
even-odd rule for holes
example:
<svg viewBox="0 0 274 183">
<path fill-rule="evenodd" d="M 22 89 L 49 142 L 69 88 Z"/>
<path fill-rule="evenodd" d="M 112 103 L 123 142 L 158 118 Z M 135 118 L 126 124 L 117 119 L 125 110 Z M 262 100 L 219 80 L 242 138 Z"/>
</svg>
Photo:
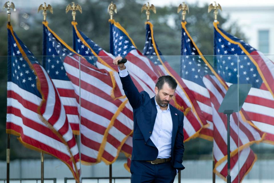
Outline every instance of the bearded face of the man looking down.
<svg viewBox="0 0 274 183">
<path fill-rule="evenodd" d="M 174 93 L 175 89 L 170 88 L 167 83 L 164 83 L 162 89 L 160 90 L 158 87 L 155 87 L 155 100 L 160 107 L 164 108 L 168 106 L 170 100 L 174 96 Z"/>
</svg>

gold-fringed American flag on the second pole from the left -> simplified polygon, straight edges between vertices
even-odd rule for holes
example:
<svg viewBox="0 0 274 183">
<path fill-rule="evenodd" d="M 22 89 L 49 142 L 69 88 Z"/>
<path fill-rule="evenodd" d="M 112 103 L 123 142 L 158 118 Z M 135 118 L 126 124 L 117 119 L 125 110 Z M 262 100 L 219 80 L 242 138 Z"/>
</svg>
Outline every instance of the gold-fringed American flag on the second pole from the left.
<svg viewBox="0 0 274 183">
<path fill-rule="evenodd" d="M 59 38 L 48 27 L 47 23 L 43 24 L 44 36 L 46 37 L 44 40 L 47 41 L 44 44 L 44 49 L 53 51 L 51 54 L 62 55 L 49 57 L 53 59 L 53 63 L 46 62 L 45 67 L 49 75 L 54 78 L 53 81 L 58 91 L 62 93 L 60 94 L 62 102 L 67 104 L 68 107 L 73 106 L 76 108 L 71 110 L 76 117 L 81 111 L 82 163 L 97 163 L 101 159 L 104 160 L 104 158 L 107 160 L 112 158 L 114 161 L 117 149 L 113 145 L 119 143 L 114 137 L 117 134 L 120 135 L 120 133 L 117 132 L 118 130 L 115 131 L 112 126 L 119 124 L 120 121 L 127 121 L 130 115 L 130 111 L 125 107 L 125 102 L 113 99 L 113 97 L 121 97 L 114 76 L 105 69 L 95 67 L 96 64 L 92 59 L 87 61 L 82 57 L 73 56 L 78 54 Z M 50 53 L 47 55 L 50 55 Z M 92 58 L 92 56 L 87 58 Z M 79 65 L 81 68 L 80 74 Z M 79 79 L 81 79 L 81 87 L 79 87 Z M 81 108 L 79 107 L 80 92 Z M 121 113 L 121 111 L 125 112 Z M 128 131 L 129 135 L 131 130 Z M 119 137 L 122 138 L 122 136 Z"/>
</svg>

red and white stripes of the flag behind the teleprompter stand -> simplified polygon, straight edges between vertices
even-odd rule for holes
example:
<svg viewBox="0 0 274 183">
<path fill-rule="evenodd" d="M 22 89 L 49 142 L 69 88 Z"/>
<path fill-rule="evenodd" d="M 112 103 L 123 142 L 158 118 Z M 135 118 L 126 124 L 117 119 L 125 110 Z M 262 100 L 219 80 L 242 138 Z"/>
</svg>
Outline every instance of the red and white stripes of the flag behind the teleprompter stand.
<svg viewBox="0 0 274 183">
<path fill-rule="evenodd" d="M 185 29 L 187 32 L 187 30 Z M 198 47 L 195 48 L 200 53 Z M 205 59 L 203 58 L 205 61 Z M 206 61 L 205 61 L 206 62 Z M 207 66 L 211 67 L 207 64 Z M 272 69 L 273 70 L 273 69 Z M 184 79 L 183 79 L 184 80 Z M 207 120 L 210 124 L 208 128 L 202 129 L 200 132 L 200 137 L 207 140 L 213 140 L 214 148 L 214 159 L 215 166 L 214 172 L 226 179 L 227 176 L 227 125 L 226 116 L 219 114 L 217 112 L 223 97 L 226 93 L 225 87 L 221 85 L 225 83 L 223 80 L 218 81 L 217 74 L 215 76 L 209 76 L 203 78 L 206 87 L 202 87 L 192 81 L 184 80 L 186 85 L 192 90 L 198 104 Z M 229 83 L 228 83 L 229 84 Z M 229 84 L 230 85 L 230 84 Z M 228 86 L 226 85 L 226 88 Z M 247 102 L 247 101 L 245 101 Z M 246 112 L 242 110 L 243 115 L 247 120 Z M 233 124 L 234 123 L 234 124 Z M 232 146 L 230 146 L 230 152 L 234 150 L 234 156 L 231 156 L 231 180 L 232 182 L 239 182 L 244 178 L 244 176 L 252 168 L 253 163 L 257 160 L 256 155 L 248 147 L 249 143 L 252 141 L 259 141 L 262 138 L 262 133 L 259 130 L 253 128 L 251 125 L 243 122 L 241 116 L 239 118 L 239 128 L 238 128 L 237 116 L 233 115 L 231 118 L 231 135 L 230 140 Z M 238 144 L 238 134 L 239 134 L 239 144 Z M 252 143 L 253 143 L 252 142 Z M 245 145 L 246 144 L 246 145 Z M 237 149 L 239 146 L 246 147 L 240 151 L 240 157 L 238 157 Z M 236 153 L 236 154 L 235 154 Z M 225 157 L 226 156 L 226 157 Z"/>
</svg>

